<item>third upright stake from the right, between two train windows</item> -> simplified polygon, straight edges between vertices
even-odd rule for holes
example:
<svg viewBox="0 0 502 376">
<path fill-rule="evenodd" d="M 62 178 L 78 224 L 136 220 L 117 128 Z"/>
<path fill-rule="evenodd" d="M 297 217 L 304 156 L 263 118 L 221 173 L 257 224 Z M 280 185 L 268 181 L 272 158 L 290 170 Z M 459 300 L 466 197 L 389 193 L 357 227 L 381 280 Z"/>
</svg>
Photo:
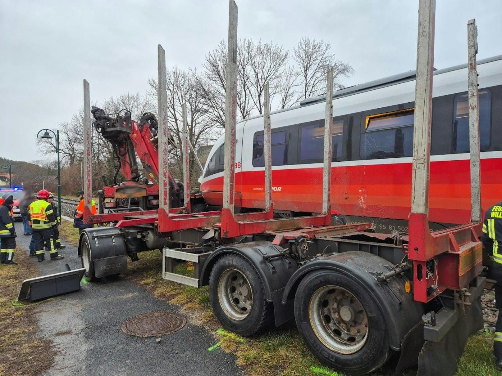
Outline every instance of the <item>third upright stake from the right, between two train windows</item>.
<svg viewBox="0 0 502 376">
<path fill-rule="evenodd" d="M 331 202 L 331 159 L 333 134 L 333 67 L 328 68 L 326 81 L 326 109 L 324 112 L 324 165 L 322 171 L 322 215 L 328 214 Z"/>
</svg>

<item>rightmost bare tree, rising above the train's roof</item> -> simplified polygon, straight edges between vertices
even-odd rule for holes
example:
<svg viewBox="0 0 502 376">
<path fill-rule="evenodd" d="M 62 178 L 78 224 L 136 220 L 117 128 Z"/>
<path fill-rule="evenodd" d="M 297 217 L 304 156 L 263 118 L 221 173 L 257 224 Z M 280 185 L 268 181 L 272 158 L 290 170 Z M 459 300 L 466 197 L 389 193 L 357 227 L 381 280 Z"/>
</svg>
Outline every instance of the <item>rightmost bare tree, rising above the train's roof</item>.
<svg viewBox="0 0 502 376">
<path fill-rule="evenodd" d="M 316 41 L 315 38 L 303 37 L 293 50 L 293 58 L 297 64 L 296 73 L 301 89 L 297 102 L 325 92 L 325 76 L 328 67 L 334 67 L 333 86 L 335 88 L 342 87 L 339 78 L 354 73 L 350 64 L 335 59 L 335 55 L 331 53 L 331 44 L 322 39 Z"/>
</svg>

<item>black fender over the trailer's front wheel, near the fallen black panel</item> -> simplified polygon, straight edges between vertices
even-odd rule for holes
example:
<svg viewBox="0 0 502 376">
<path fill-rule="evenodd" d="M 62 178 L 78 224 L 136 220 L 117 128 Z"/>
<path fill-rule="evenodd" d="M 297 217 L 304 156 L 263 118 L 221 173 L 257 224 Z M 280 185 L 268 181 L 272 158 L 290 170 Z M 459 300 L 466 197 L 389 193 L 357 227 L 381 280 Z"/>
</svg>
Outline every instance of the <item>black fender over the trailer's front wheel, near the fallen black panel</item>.
<svg viewBox="0 0 502 376">
<path fill-rule="evenodd" d="M 78 241 L 79 256 L 84 243 L 89 245 L 96 278 L 127 272 L 126 242 L 119 229 L 94 227 L 82 230 Z"/>
</svg>

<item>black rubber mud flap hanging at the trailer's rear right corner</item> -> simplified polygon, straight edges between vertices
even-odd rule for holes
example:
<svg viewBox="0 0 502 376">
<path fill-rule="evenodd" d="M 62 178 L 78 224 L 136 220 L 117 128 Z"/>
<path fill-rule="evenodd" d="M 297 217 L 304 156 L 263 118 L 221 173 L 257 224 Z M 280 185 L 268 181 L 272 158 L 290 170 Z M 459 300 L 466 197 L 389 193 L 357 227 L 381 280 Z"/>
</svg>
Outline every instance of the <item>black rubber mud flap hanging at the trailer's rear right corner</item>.
<svg viewBox="0 0 502 376">
<path fill-rule="evenodd" d="M 483 328 L 481 299 L 465 307 L 457 322 L 439 342 L 425 341 L 418 357 L 417 376 L 453 376 L 469 336 Z"/>
</svg>

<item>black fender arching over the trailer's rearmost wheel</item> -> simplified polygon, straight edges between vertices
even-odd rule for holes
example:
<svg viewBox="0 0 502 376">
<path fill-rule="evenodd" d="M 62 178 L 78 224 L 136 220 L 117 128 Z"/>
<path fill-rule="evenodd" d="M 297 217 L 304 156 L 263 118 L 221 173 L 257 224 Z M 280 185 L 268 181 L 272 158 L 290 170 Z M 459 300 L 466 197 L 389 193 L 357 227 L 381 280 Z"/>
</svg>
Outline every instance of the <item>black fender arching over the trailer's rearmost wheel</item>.
<svg viewBox="0 0 502 376">
<path fill-rule="evenodd" d="M 376 281 L 376 275 L 387 273 L 393 267 L 393 264 L 379 256 L 360 251 L 318 258 L 293 274 L 284 289 L 282 303 L 287 304 L 294 300 L 300 282 L 314 270 L 333 270 L 347 274 L 376 297 L 375 302 L 384 313 L 389 328 L 391 348 L 399 351 L 405 335 L 421 321 L 424 306 L 413 300 L 413 294 L 406 293 L 404 285 L 407 278 L 405 276 L 398 275 L 382 283 Z"/>
</svg>

